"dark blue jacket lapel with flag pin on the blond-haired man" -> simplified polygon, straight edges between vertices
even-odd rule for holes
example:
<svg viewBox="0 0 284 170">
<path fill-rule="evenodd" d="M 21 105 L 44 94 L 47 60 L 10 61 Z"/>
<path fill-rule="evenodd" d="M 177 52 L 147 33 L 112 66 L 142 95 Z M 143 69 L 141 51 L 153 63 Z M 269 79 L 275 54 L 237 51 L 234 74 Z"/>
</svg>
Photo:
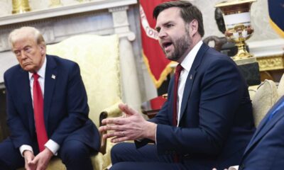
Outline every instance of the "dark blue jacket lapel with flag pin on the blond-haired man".
<svg viewBox="0 0 284 170">
<path fill-rule="evenodd" d="M 50 55 L 46 55 L 46 69 L 45 69 L 45 92 L 44 92 L 44 119 L 45 119 L 45 128 L 48 131 L 48 115 L 50 113 L 50 105 L 53 98 L 53 92 L 56 83 L 56 77 L 58 69 L 56 63 Z"/>
</svg>

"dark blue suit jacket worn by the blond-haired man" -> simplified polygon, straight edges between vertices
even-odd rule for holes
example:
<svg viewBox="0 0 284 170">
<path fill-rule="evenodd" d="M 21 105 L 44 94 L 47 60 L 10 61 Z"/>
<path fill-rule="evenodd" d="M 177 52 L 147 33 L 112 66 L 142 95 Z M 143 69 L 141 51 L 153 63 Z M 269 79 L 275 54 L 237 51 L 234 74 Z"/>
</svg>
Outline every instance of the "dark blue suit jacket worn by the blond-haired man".
<svg viewBox="0 0 284 170">
<path fill-rule="evenodd" d="M 59 145 L 67 138 L 76 139 L 98 151 L 99 132 L 88 118 L 87 94 L 78 64 L 52 55 L 46 55 L 46 59 L 44 119 L 48 139 Z M 18 64 L 4 73 L 4 81 L 10 139 L 15 148 L 33 146 L 36 134 L 28 72 Z"/>
</svg>

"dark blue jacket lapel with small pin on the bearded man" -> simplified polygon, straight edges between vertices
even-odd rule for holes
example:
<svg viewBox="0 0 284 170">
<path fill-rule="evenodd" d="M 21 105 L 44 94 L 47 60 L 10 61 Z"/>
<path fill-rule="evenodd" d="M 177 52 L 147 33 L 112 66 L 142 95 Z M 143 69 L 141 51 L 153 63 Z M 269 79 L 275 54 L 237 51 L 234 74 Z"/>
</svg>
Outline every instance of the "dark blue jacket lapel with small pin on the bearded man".
<svg viewBox="0 0 284 170">
<path fill-rule="evenodd" d="M 187 81 L 185 82 L 185 89 L 182 95 L 182 106 L 180 107 L 180 120 L 182 118 L 182 115 L 185 113 L 187 101 L 188 101 L 188 98 L 190 97 L 190 93 L 192 90 L 192 84 L 195 80 L 195 75 L 197 74 L 197 71 L 198 71 L 197 68 L 200 66 L 200 63 L 202 62 L 202 58 L 208 49 L 209 49 L 208 45 L 204 43 L 201 45 L 200 50 L 198 50 L 197 55 L 195 57 L 195 61 L 192 63 L 190 72 L 188 73 Z"/>
</svg>

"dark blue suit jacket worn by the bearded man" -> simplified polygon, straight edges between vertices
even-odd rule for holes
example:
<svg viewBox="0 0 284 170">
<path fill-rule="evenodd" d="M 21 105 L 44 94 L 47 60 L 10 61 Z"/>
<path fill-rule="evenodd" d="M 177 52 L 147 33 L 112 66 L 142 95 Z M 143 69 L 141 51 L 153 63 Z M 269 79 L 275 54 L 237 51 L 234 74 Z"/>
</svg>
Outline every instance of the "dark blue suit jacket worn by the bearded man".
<svg viewBox="0 0 284 170">
<path fill-rule="evenodd" d="M 173 80 L 168 101 L 150 120 L 158 123 L 158 154 L 179 154 L 189 169 L 238 164 L 255 128 L 246 81 L 234 61 L 203 43 L 187 77 L 178 128 L 172 122 Z"/>
</svg>

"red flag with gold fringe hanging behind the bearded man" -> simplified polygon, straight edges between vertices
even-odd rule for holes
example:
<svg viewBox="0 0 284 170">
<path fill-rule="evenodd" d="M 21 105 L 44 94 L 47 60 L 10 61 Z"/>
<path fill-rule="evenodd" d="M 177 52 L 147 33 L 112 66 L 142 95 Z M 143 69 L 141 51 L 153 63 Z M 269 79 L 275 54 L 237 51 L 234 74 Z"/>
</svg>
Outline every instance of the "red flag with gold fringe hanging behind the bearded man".
<svg viewBox="0 0 284 170">
<path fill-rule="evenodd" d="M 143 47 L 143 60 L 148 67 L 148 72 L 158 88 L 168 74 L 172 71 L 170 60 L 165 57 L 158 43 L 158 33 L 155 31 L 155 19 L 153 9 L 158 4 L 168 0 L 141 0 L 141 40 Z"/>
</svg>

